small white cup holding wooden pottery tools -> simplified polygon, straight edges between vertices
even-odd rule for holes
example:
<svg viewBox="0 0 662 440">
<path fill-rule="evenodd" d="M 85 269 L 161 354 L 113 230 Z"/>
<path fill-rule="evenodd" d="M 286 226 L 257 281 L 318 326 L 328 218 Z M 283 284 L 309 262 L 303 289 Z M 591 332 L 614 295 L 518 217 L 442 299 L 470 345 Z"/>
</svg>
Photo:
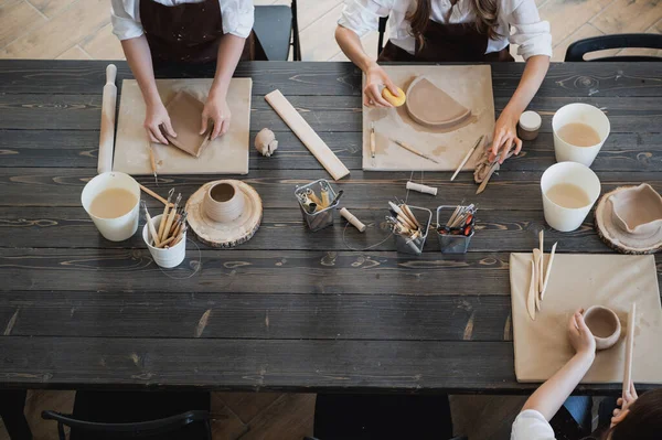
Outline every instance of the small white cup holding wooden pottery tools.
<svg viewBox="0 0 662 440">
<path fill-rule="evenodd" d="M 170 197 L 169 197 L 170 198 Z M 147 223 L 142 228 L 142 239 L 154 262 L 162 268 L 171 269 L 179 266 L 186 257 L 186 212 L 179 206 L 181 194 L 174 205 L 166 206 L 163 214 L 151 217 L 145 202 Z"/>
</svg>

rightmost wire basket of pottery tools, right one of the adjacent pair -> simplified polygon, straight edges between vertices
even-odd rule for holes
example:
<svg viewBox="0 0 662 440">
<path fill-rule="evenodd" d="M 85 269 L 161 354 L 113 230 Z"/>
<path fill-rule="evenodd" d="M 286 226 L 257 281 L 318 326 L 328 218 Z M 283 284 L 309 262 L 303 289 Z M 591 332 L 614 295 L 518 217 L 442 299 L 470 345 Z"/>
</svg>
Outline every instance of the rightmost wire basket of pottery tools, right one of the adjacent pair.
<svg viewBox="0 0 662 440">
<path fill-rule="evenodd" d="M 441 254 L 467 254 L 476 230 L 476 212 L 471 205 L 437 207 L 437 238 Z"/>
</svg>

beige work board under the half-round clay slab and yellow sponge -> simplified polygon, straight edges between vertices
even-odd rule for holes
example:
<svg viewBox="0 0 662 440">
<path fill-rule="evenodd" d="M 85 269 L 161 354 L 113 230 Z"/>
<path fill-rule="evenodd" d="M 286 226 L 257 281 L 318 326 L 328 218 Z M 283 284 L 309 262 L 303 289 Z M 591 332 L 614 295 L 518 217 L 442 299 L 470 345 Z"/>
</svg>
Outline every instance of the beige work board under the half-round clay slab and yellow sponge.
<svg viewBox="0 0 662 440">
<path fill-rule="evenodd" d="M 383 66 L 391 79 L 403 90 L 417 76 L 424 75 L 462 106 L 472 116 L 448 130 L 430 130 L 416 124 L 405 106 L 394 108 L 363 107 L 363 169 L 372 171 L 455 171 L 481 135 L 492 140 L 494 131 L 494 98 L 492 69 L 489 65 L 472 66 Z M 365 87 L 365 76 L 363 77 Z M 430 103 L 435 105 L 435 103 Z M 370 153 L 370 131 L 374 122 L 375 159 Z M 395 144 L 398 139 L 439 163 L 414 155 Z M 481 150 L 482 151 L 482 150 Z M 476 168 L 477 152 L 463 170 Z"/>
</svg>

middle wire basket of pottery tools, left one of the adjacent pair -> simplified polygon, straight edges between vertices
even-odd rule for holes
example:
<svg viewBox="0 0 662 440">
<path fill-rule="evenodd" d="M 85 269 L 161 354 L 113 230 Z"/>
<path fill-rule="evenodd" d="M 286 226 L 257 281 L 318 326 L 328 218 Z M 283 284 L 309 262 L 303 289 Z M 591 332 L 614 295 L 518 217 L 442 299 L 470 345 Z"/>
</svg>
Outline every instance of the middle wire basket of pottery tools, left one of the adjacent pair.
<svg viewBox="0 0 662 440">
<path fill-rule="evenodd" d="M 386 222 L 395 235 L 397 251 L 420 255 L 433 223 L 433 212 L 425 207 L 394 202 L 388 202 L 388 211 L 391 215 L 386 216 Z"/>
</svg>

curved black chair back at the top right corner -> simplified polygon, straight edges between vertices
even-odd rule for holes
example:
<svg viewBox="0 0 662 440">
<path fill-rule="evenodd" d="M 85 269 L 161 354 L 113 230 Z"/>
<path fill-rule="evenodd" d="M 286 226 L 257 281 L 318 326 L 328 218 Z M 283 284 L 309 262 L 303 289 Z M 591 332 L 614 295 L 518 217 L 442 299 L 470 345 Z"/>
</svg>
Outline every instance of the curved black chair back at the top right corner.
<svg viewBox="0 0 662 440">
<path fill-rule="evenodd" d="M 662 35 L 655 33 L 623 33 L 616 35 L 594 36 L 584 39 L 570 44 L 566 51 L 566 62 L 579 61 L 662 61 L 659 56 L 605 56 L 596 60 L 584 60 L 584 55 L 590 52 L 605 51 L 608 49 L 662 49 Z"/>
</svg>

